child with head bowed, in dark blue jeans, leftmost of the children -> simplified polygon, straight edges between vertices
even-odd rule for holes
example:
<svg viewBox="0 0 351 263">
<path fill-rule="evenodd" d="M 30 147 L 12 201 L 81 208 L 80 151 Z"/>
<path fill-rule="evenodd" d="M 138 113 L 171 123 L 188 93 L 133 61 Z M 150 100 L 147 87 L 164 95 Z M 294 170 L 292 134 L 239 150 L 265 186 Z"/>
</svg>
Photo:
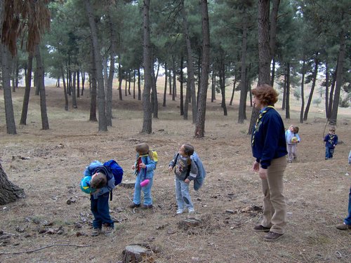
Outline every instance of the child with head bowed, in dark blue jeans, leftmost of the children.
<svg viewBox="0 0 351 263">
<path fill-rule="evenodd" d="M 109 208 L 109 196 L 110 191 L 114 189 L 114 177 L 113 175 L 107 176 L 109 173 L 102 166 L 102 163 L 98 161 L 91 163 L 89 167 L 94 167 L 90 186 L 92 189 L 96 189 L 96 191 L 91 193 L 90 198 L 91 213 L 94 215 L 91 236 L 102 234 L 102 225 L 106 227 L 105 231 L 103 231 L 105 236 L 110 236 L 114 232 L 114 220 L 110 217 Z"/>
</svg>

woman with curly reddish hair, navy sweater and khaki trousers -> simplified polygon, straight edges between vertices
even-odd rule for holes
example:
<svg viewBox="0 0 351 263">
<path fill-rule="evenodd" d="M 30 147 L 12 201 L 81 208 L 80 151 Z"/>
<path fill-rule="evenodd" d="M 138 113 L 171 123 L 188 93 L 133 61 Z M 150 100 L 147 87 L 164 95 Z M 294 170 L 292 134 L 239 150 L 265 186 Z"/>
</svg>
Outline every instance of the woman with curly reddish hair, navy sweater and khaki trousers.
<svg viewBox="0 0 351 263">
<path fill-rule="evenodd" d="M 268 232 L 265 241 L 276 241 L 284 235 L 286 203 L 283 195 L 283 175 L 286 168 L 286 141 L 282 117 L 274 103 L 278 93 L 267 84 L 252 90 L 253 104 L 260 115 L 253 127 L 251 147 L 253 171 L 258 172 L 263 189 L 263 221 L 253 230 Z"/>
</svg>

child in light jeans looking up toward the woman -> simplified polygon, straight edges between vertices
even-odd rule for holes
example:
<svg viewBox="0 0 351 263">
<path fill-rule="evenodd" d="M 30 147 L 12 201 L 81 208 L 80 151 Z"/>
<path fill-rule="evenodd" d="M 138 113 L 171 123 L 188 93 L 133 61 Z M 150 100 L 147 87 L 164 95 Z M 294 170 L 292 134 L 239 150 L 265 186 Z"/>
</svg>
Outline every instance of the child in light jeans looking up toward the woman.
<svg viewBox="0 0 351 263">
<path fill-rule="evenodd" d="M 192 154 L 194 154 L 194 147 L 190 144 L 183 144 L 168 166 L 170 171 L 174 168 L 174 174 L 176 175 L 178 215 L 183 214 L 185 208 L 187 208 L 188 213 L 195 213 L 189 193 L 189 183 L 197 177 L 197 165 L 190 158 Z"/>
</svg>

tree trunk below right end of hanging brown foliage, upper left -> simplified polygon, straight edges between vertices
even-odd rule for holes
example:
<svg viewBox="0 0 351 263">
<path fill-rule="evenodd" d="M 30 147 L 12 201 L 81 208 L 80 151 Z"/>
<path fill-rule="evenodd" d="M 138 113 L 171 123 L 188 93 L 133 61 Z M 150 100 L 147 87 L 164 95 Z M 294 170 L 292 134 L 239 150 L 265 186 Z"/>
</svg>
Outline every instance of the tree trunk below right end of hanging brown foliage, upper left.
<svg viewBox="0 0 351 263">
<path fill-rule="evenodd" d="M 35 50 L 35 60 L 37 62 L 37 84 L 40 95 L 40 113 L 41 113 L 41 128 L 43 130 L 48 130 L 48 114 L 46 112 L 46 94 L 45 94 L 45 84 L 44 84 L 44 67 L 41 60 L 39 44 L 34 46 Z"/>
</svg>

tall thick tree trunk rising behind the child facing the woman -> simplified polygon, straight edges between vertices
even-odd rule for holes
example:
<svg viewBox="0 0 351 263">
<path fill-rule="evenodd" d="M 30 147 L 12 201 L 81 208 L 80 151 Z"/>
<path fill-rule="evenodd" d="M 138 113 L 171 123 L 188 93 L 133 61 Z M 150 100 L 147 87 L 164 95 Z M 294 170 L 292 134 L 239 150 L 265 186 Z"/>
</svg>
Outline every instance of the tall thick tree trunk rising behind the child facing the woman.
<svg viewBox="0 0 351 263">
<path fill-rule="evenodd" d="M 208 23 L 207 0 L 201 0 L 202 17 L 202 62 L 199 87 L 199 104 L 197 109 L 197 121 L 195 123 L 195 137 L 205 135 L 206 98 L 208 89 L 208 71 L 210 65 L 210 29 Z M 194 103 L 194 102 L 193 102 Z"/>
</svg>

